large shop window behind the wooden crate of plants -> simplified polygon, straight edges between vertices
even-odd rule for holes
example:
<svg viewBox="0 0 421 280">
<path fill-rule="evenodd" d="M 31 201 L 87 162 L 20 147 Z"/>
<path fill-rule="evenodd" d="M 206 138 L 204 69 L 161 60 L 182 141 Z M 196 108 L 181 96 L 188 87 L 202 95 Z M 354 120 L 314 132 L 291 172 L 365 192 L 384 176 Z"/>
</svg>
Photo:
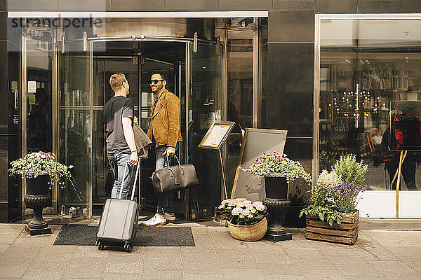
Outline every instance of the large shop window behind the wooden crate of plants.
<svg viewBox="0 0 421 280">
<path fill-rule="evenodd" d="M 421 113 L 420 25 L 421 20 L 321 20 L 319 171 L 353 153 L 368 164 L 369 191 L 396 190 L 400 152 L 390 151 L 386 140 L 394 137 L 390 118 Z M 403 162 L 400 190 L 421 190 L 417 149 Z M 389 216 L 396 214 L 394 196 L 382 203 L 391 205 Z"/>
</svg>

